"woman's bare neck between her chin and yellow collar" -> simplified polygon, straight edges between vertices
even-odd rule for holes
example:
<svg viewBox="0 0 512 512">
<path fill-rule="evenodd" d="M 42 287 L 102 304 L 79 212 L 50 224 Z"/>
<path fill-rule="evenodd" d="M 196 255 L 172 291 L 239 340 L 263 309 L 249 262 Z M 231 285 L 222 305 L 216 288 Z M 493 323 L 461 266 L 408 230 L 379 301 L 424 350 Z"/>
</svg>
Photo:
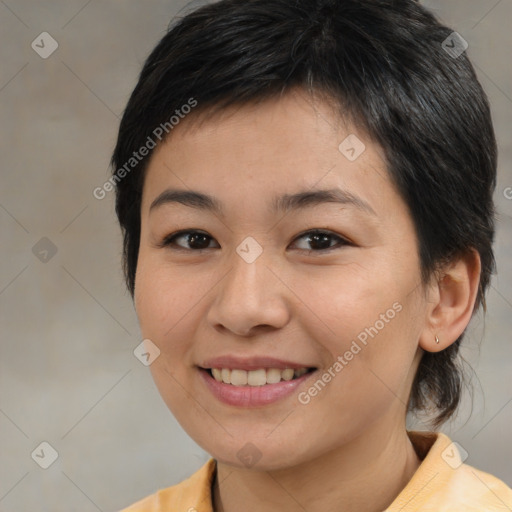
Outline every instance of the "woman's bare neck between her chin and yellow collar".
<svg viewBox="0 0 512 512">
<path fill-rule="evenodd" d="M 368 429 L 350 443 L 296 466 L 257 471 L 217 463 L 215 512 L 385 510 L 420 460 L 405 428 Z"/>
</svg>

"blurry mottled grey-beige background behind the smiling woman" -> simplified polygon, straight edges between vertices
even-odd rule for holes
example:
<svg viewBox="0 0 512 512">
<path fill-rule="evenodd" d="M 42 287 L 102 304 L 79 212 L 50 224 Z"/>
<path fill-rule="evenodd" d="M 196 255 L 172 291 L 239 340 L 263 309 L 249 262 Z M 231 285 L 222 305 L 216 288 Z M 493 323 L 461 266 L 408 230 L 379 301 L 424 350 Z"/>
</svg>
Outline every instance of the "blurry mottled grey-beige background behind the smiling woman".
<svg viewBox="0 0 512 512">
<path fill-rule="evenodd" d="M 208 458 L 133 355 L 141 340 L 113 194 L 92 195 L 141 65 L 185 4 L 0 1 L 2 512 L 117 510 Z M 476 371 L 473 411 L 466 397 L 443 431 L 467 463 L 510 485 L 512 0 L 425 4 L 468 41 L 500 147 L 498 276 L 464 349 Z M 47 59 L 31 47 L 44 31 L 59 44 Z M 43 441 L 59 454 L 46 470 L 31 457 Z"/>
</svg>

